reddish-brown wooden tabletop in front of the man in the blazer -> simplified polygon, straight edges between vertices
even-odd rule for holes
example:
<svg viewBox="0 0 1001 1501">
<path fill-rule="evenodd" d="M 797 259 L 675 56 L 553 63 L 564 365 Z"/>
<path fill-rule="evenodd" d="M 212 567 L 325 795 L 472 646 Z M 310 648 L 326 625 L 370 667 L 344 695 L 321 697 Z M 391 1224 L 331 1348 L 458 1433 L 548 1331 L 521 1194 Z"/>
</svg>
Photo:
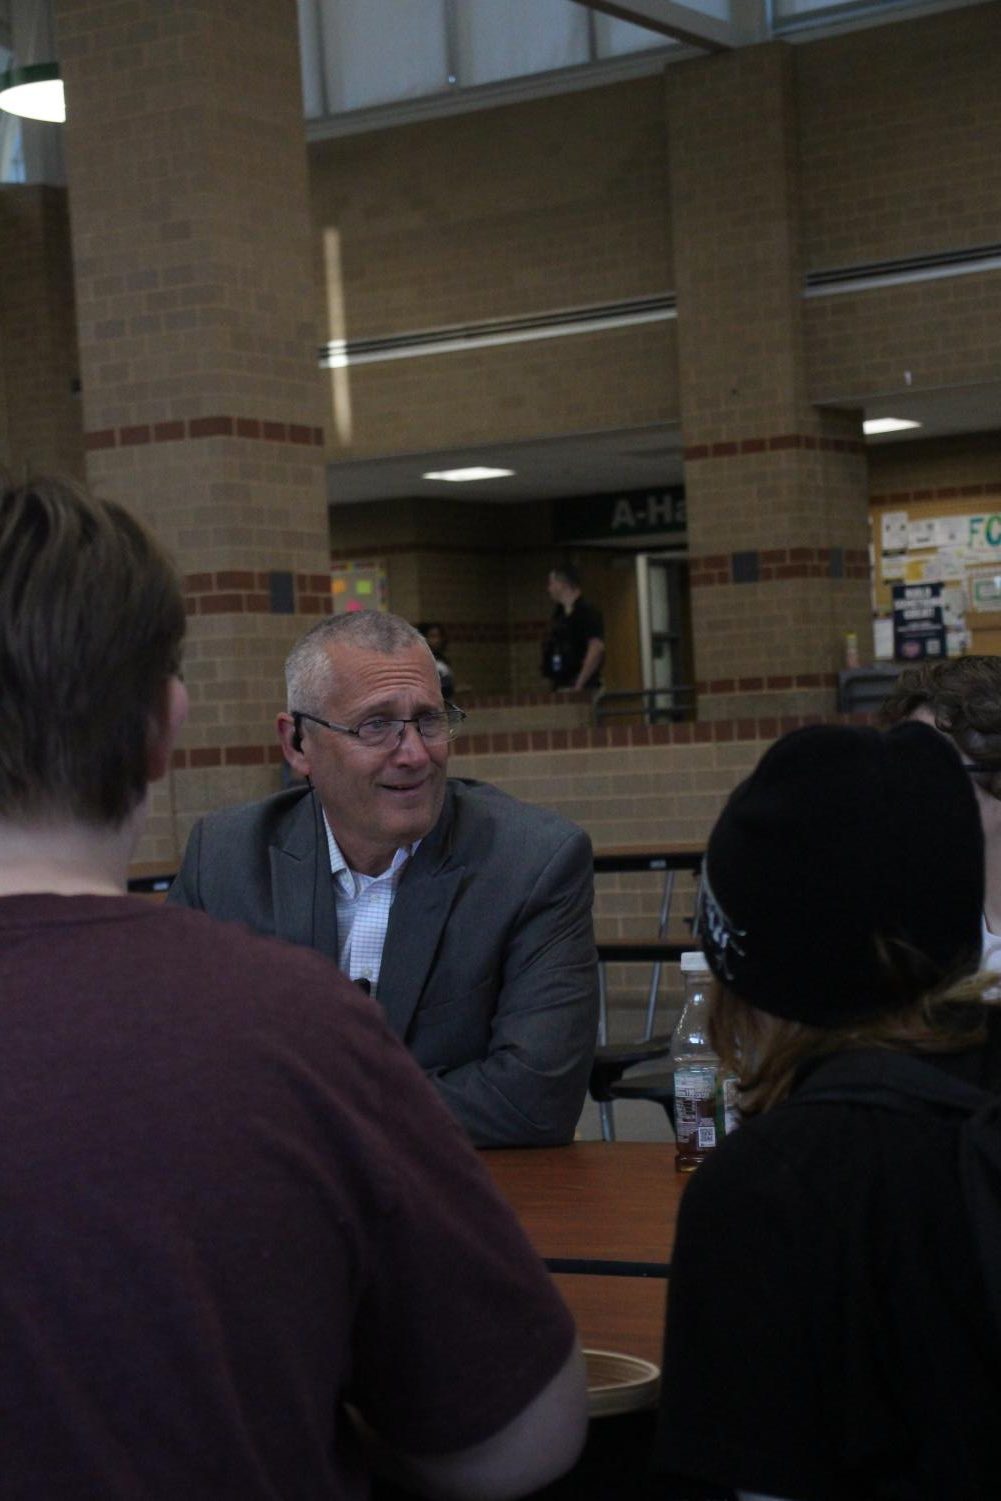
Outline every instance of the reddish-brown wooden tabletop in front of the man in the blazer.
<svg viewBox="0 0 1001 1501">
<path fill-rule="evenodd" d="M 666 1276 L 687 1183 L 674 1171 L 674 1147 L 587 1141 L 485 1151 L 483 1163 L 554 1271 L 581 1343 L 660 1364 Z"/>
</svg>

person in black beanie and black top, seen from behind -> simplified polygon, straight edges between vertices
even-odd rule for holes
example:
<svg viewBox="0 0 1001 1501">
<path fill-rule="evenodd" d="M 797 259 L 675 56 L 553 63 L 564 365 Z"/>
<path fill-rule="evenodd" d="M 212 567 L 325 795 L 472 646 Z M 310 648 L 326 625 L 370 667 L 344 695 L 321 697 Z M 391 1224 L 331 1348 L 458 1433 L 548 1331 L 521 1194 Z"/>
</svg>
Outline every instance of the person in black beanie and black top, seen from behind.
<svg viewBox="0 0 1001 1501">
<path fill-rule="evenodd" d="M 794 731 L 720 814 L 698 932 L 744 1120 L 681 1205 L 651 1493 L 996 1496 L 983 881 L 969 773 L 923 723 Z"/>
</svg>

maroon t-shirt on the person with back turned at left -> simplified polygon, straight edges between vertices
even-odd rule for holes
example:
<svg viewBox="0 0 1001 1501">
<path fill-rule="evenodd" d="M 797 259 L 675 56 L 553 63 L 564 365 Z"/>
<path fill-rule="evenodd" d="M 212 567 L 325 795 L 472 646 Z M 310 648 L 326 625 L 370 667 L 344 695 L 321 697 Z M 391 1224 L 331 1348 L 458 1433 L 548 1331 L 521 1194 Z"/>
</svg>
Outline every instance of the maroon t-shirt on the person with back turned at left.
<svg viewBox="0 0 1001 1501">
<path fill-rule="evenodd" d="M 363 1495 L 344 1400 L 464 1448 L 572 1337 L 332 964 L 135 898 L 0 899 L 5 1501 Z"/>
</svg>

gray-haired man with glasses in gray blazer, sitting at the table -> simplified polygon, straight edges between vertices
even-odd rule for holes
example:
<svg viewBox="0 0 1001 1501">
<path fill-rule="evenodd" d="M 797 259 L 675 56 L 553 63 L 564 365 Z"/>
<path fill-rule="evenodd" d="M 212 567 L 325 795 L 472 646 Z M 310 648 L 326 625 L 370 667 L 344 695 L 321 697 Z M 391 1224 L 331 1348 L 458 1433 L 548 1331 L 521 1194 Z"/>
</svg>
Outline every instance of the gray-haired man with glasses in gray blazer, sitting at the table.
<svg viewBox="0 0 1001 1501">
<path fill-rule="evenodd" d="M 477 1145 L 570 1141 L 597 1022 L 587 835 L 447 778 L 464 716 L 399 617 L 323 621 L 285 675 L 306 785 L 201 820 L 168 901 L 333 958 Z"/>
</svg>

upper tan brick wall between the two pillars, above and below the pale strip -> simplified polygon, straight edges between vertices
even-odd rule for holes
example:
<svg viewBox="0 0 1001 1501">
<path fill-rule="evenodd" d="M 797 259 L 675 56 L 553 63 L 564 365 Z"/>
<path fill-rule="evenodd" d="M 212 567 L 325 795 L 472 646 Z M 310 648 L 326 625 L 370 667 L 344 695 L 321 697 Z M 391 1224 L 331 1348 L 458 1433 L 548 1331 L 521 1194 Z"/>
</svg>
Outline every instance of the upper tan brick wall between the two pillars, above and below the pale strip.
<svg viewBox="0 0 1001 1501">
<path fill-rule="evenodd" d="M 668 291 L 660 90 L 644 78 L 314 146 L 327 336 Z M 329 378 L 332 410 L 348 393 L 330 452 L 663 422 L 674 366 L 669 324 L 356 366 Z"/>
</svg>

